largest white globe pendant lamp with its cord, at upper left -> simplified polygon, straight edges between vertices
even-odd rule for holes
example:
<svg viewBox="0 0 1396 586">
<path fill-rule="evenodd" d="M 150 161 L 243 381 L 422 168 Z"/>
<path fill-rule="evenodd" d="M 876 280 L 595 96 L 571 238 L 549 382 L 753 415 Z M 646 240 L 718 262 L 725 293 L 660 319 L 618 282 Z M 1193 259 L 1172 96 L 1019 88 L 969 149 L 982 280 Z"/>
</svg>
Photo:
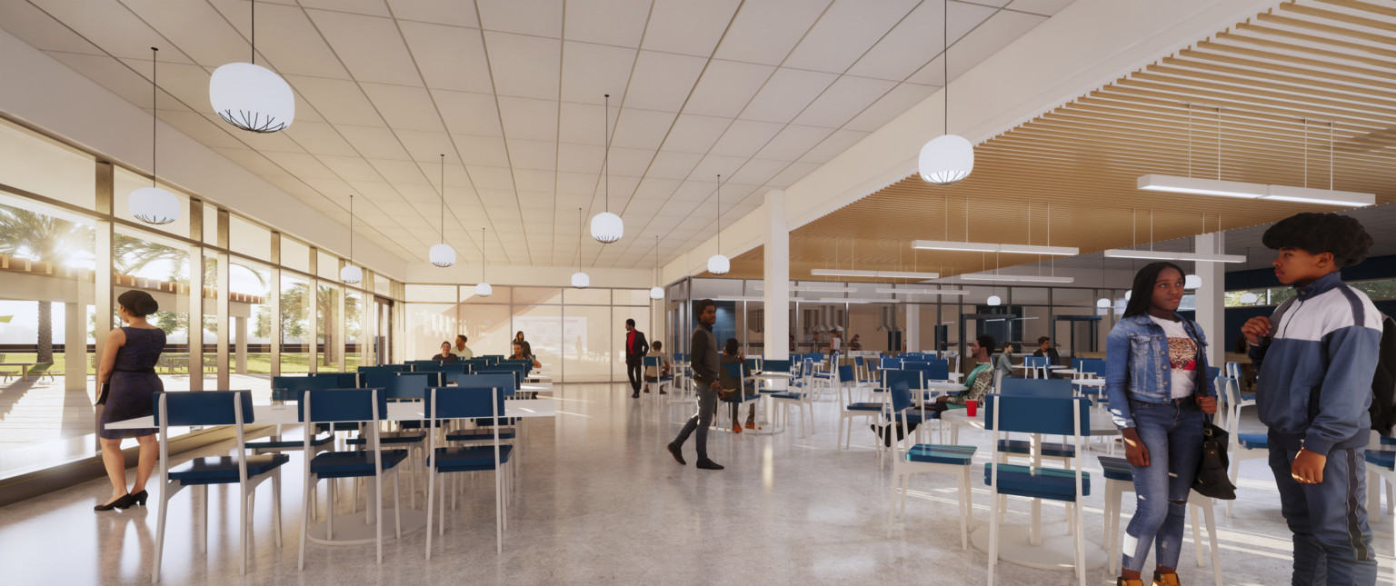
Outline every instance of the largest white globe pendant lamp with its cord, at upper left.
<svg viewBox="0 0 1396 586">
<path fill-rule="evenodd" d="M 208 102 L 229 124 L 253 133 L 286 130 L 296 120 L 296 95 L 281 75 L 257 64 L 257 0 L 253 0 L 250 63 L 228 63 L 208 80 Z"/>
</svg>

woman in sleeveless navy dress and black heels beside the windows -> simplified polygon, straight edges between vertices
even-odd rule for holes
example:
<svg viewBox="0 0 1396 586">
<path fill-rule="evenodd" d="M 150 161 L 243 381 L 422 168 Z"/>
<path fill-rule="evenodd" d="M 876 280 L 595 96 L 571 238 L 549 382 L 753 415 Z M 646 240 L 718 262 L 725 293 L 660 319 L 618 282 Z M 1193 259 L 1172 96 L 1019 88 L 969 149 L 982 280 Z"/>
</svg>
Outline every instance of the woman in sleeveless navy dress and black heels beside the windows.
<svg viewBox="0 0 1396 586">
<path fill-rule="evenodd" d="M 156 392 L 165 391 L 161 377 L 155 375 L 155 363 L 161 360 L 161 352 L 165 352 L 165 331 L 145 321 L 147 315 L 159 310 L 159 304 L 149 293 L 141 290 L 121 293 L 116 301 L 117 313 L 127 325 L 107 333 L 102 366 L 96 371 L 99 388 L 103 382 L 110 382 L 98 435 L 102 442 L 102 463 L 106 466 L 106 476 L 112 479 L 112 498 L 105 505 L 94 506 L 96 511 L 145 505 L 145 481 L 149 480 L 159 456 L 159 442 L 155 437 L 158 430 L 106 427 L 112 421 L 154 414 L 152 398 Z M 135 467 L 135 486 L 127 493 L 121 440 L 133 437 L 141 445 L 141 458 Z"/>
</svg>

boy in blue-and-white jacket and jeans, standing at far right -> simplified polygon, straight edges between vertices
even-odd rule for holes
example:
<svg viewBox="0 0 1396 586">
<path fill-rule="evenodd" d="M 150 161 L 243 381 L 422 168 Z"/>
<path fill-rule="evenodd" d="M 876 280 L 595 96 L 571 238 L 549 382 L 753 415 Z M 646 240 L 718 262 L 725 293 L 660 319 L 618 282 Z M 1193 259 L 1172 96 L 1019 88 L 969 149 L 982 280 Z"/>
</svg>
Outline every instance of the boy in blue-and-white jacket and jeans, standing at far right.
<svg viewBox="0 0 1396 586">
<path fill-rule="evenodd" d="M 1262 241 L 1279 254 L 1275 276 L 1297 296 L 1241 332 L 1259 366 L 1256 410 L 1269 428 L 1280 512 L 1294 533 L 1294 585 L 1375 585 L 1367 525 L 1364 448 L 1381 313 L 1339 269 L 1372 246 L 1362 225 L 1337 213 L 1298 213 Z"/>
</svg>

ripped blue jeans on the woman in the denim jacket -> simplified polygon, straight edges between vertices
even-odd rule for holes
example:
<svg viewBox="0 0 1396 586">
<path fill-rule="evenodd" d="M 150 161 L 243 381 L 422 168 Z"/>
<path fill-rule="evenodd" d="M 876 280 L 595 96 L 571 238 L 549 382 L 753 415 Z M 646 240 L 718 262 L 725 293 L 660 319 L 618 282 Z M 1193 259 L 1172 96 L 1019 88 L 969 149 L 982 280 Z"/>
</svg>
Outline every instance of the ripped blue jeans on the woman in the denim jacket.
<svg viewBox="0 0 1396 586">
<path fill-rule="evenodd" d="M 1154 564 L 1178 566 L 1188 493 L 1202 459 L 1202 409 L 1192 398 L 1168 403 L 1131 400 L 1135 433 L 1149 449 L 1149 466 L 1132 466 L 1135 515 L 1125 529 L 1125 569 L 1143 571 L 1149 546 Z"/>
</svg>

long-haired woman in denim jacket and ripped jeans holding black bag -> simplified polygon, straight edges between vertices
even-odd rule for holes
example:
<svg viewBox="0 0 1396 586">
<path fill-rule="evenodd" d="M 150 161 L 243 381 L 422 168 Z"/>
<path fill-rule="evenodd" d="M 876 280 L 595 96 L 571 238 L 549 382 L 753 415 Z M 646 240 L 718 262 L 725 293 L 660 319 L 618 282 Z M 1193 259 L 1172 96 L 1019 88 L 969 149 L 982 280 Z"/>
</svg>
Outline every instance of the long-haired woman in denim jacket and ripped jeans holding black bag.
<svg viewBox="0 0 1396 586">
<path fill-rule="evenodd" d="M 1106 342 L 1106 395 L 1134 467 L 1138 504 L 1125 530 L 1120 586 L 1142 586 L 1154 547 L 1153 585 L 1178 583 L 1188 491 L 1202 453 L 1202 414 L 1216 413 L 1202 328 L 1178 315 L 1182 269 L 1152 262 L 1135 275 L 1125 314 Z"/>
</svg>

